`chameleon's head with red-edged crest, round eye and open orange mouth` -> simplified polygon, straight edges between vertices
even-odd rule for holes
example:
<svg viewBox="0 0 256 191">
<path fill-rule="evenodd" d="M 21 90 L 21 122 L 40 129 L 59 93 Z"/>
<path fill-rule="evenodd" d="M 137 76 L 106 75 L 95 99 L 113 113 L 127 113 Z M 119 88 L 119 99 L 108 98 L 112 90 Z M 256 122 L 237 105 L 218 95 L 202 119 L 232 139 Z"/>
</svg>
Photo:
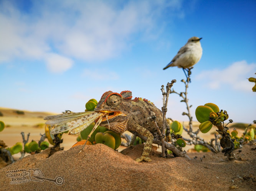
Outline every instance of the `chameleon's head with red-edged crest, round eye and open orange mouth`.
<svg viewBox="0 0 256 191">
<path fill-rule="evenodd" d="M 131 100 L 132 92 L 130 91 L 122 91 L 120 94 L 108 91 L 101 96 L 101 100 L 99 100 L 94 111 L 107 113 L 109 122 L 123 121 L 132 110 Z M 103 117 L 102 124 L 104 124 L 103 122 L 107 119 Z"/>
</svg>

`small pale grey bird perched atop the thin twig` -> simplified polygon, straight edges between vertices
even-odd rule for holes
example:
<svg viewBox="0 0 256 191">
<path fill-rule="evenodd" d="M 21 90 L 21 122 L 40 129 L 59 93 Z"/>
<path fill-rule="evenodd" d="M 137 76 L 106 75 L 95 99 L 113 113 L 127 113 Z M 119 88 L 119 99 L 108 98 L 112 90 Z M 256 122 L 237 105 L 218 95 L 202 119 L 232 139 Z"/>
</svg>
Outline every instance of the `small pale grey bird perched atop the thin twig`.
<svg viewBox="0 0 256 191">
<path fill-rule="evenodd" d="M 202 38 L 191 37 L 187 44 L 180 48 L 177 55 L 172 59 L 163 70 L 170 66 L 178 66 L 178 68 L 190 68 L 195 65 L 202 57 L 203 49 L 200 44 Z M 185 71 L 184 71 L 185 72 Z"/>
</svg>

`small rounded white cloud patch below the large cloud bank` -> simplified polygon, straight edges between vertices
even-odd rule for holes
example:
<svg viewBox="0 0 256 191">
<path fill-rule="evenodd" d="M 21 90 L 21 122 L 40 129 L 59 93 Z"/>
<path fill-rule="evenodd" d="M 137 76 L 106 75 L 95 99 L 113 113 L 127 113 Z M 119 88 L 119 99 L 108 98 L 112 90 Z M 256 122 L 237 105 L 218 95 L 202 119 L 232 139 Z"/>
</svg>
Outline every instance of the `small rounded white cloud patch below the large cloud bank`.
<svg viewBox="0 0 256 191">
<path fill-rule="evenodd" d="M 62 73 L 73 65 L 73 60 L 55 53 L 48 54 L 45 60 L 47 68 L 53 73 Z"/>
</svg>

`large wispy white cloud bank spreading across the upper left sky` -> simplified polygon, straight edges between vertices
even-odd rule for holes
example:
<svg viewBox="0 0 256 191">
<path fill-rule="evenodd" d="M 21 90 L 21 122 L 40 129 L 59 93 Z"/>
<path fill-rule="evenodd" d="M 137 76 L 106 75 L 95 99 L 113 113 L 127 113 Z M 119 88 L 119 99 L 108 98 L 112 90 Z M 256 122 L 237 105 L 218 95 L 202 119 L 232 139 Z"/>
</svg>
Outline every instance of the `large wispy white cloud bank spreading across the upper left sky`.
<svg viewBox="0 0 256 191">
<path fill-rule="evenodd" d="M 18 3 L 17 3 L 18 4 Z M 84 61 L 116 57 L 134 36 L 159 34 L 160 16 L 180 16 L 181 1 L 33 1 L 21 10 L 0 3 L 0 63 L 14 58 L 47 60 L 57 53 Z M 172 18 L 170 18 L 171 20 Z M 66 64 L 66 70 L 72 65 Z"/>
</svg>

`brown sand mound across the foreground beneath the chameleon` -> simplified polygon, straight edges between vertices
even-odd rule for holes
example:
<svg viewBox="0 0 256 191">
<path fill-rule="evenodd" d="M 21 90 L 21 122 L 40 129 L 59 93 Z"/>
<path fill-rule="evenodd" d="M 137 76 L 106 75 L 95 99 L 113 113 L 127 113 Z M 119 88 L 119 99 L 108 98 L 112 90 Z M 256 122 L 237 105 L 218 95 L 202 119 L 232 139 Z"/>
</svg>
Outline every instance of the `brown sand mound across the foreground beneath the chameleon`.
<svg viewBox="0 0 256 191">
<path fill-rule="evenodd" d="M 166 159 L 160 158 L 159 152 L 153 151 L 150 155 L 152 162 L 148 163 L 134 161 L 142 153 L 143 145 L 129 147 L 122 151 L 123 154 L 103 144 L 86 146 L 84 152 L 78 154 L 81 147 L 59 151 L 50 157 L 50 149 L 46 149 L 2 168 L 0 190 L 235 188 L 248 191 L 256 188 L 256 151 L 252 150 L 255 146 L 244 146 L 233 161 L 228 161 L 223 153 L 190 153 L 191 160 L 187 160 L 183 157 L 172 158 L 171 155 Z M 196 159 L 193 158 L 195 155 Z M 203 155 L 205 158 L 201 161 Z"/>
</svg>

